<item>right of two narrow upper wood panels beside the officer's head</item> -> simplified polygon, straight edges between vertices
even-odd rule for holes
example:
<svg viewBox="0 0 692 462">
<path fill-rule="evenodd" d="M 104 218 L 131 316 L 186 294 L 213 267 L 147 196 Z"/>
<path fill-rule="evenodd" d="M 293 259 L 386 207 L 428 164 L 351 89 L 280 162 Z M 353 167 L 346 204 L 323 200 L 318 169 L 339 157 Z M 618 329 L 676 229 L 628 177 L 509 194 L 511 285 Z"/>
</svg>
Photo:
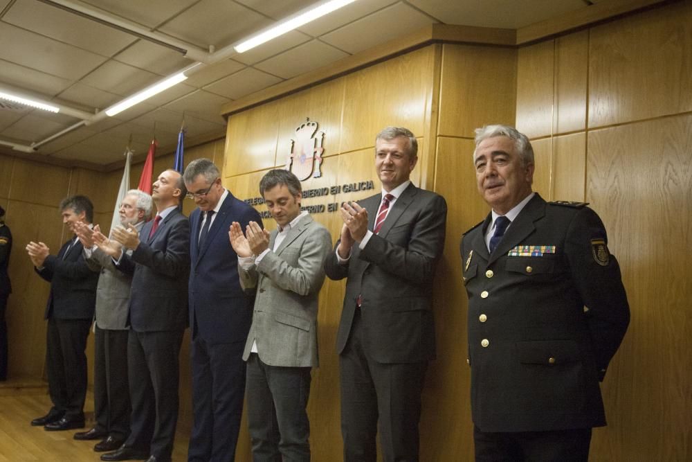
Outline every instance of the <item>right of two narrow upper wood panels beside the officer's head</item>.
<svg viewBox="0 0 692 462">
<path fill-rule="evenodd" d="M 555 39 L 555 133 L 586 127 L 588 39 L 588 30 Z"/>
</svg>

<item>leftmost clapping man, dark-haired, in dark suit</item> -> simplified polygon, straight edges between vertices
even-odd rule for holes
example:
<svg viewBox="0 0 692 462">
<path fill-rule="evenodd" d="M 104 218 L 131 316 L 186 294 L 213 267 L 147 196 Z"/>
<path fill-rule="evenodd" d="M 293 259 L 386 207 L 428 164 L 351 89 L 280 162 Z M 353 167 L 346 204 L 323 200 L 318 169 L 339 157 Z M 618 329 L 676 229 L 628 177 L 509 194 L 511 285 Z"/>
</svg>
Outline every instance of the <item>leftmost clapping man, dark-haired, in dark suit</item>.
<svg viewBox="0 0 692 462">
<path fill-rule="evenodd" d="M 62 222 L 75 232 L 75 224 L 91 224 L 93 205 L 88 197 L 72 196 L 60 202 Z M 46 430 L 84 427 L 86 398 L 86 337 L 96 304 L 98 272 L 84 262 L 77 236 L 65 242 L 57 256 L 43 242 L 29 242 L 26 251 L 36 272 L 51 283 L 45 317 L 46 371 L 53 407 L 31 425 Z"/>
</svg>

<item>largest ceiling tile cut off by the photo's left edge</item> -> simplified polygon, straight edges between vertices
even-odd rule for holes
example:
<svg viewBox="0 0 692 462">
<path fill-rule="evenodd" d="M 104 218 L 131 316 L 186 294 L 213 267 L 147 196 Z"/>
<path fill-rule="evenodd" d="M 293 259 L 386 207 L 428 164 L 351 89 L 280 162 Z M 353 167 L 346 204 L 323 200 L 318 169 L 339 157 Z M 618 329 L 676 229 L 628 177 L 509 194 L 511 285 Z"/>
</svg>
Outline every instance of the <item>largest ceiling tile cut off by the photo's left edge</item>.
<svg viewBox="0 0 692 462">
<path fill-rule="evenodd" d="M 0 59 L 78 80 L 106 58 L 0 22 Z"/>
</svg>

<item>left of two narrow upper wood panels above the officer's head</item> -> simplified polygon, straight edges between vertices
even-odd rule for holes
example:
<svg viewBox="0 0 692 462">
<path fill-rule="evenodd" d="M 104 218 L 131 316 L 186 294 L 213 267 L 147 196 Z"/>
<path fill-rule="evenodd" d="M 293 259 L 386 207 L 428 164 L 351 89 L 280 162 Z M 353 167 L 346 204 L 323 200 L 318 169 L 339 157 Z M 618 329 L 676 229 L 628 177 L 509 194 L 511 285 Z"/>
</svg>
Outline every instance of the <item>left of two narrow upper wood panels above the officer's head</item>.
<svg viewBox="0 0 692 462">
<path fill-rule="evenodd" d="M 516 127 L 529 138 L 552 134 L 554 48 L 548 40 L 519 49 Z"/>
</svg>

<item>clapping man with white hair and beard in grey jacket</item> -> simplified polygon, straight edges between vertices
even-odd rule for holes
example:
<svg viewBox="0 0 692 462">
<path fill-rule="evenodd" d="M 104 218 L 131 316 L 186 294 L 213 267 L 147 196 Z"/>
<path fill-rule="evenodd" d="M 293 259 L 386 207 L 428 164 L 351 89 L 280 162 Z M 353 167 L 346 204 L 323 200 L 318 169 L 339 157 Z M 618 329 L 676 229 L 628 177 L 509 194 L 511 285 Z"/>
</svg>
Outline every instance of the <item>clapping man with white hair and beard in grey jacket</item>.
<svg viewBox="0 0 692 462">
<path fill-rule="evenodd" d="M 142 229 L 152 215 L 152 197 L 138 189 L 127 191 L 118 209 L 120 224 Z M 98 225 L 94 226 L 96 231 Z M 84 246 L 84 260 L 99 271 L 94 328 L 93 409 L 96 424 L 75 440 L 102 440 L 95 452 L 114 451 L 129 435 L 130 399 L 127 388 L 127 313 L 132 276 L 120 272 L 108 254 L 93 244 L 93 231 L 82 224 L 77 235 Z M 132 251 L 125 249 L 131 256 Z"/>
</svg>

